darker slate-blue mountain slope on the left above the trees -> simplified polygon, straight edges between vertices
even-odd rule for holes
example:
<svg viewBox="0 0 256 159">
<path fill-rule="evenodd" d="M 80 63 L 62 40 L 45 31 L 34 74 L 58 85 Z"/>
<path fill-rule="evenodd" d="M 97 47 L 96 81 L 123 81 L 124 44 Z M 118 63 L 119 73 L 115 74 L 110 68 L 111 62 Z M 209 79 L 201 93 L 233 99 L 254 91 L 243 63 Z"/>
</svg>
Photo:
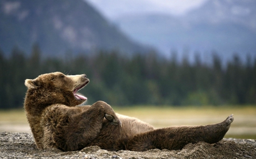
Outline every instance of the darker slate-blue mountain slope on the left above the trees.
<svg viewBox="0 0 256 159">
<path fill-rule="evenodd" d="M 0 49 L 9 54 L 14 46 L 30 53 L 38 43 L 44 55 L 65 51 L 146 51 L 130 40 L 83 0 L 1 0 Z"/>
</svg>

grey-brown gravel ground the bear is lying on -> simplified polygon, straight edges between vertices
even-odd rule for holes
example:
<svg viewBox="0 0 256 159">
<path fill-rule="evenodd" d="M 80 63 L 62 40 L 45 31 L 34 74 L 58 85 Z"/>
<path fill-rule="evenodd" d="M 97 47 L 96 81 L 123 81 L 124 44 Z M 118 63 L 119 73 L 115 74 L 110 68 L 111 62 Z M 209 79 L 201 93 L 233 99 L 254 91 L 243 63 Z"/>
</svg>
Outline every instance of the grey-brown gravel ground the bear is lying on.
<svg viewBox="0 0 256 159">
<path fill-rule="evenodd" d="M 180 151 L 109 152 L 87 147 L 81 151 L 61 152 L 37 149 L 30 133 L 0 132 L 0 158 L 256 158 L 256 141 L 229 138 L 216 144 L 188 144 Z"/>
</svg>

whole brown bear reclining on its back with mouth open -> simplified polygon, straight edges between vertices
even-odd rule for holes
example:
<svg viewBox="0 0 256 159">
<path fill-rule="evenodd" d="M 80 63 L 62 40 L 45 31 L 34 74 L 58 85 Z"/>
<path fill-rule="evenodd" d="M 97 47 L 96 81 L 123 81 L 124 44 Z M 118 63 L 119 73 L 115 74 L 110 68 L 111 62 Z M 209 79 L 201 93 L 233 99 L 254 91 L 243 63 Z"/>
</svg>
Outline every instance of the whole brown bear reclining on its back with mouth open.
<svg viewBox="0 0 256 159">
<path fill-rule="evenodd" d="M 230 115 L 217 124 L 154 129 L 139 119 L 116 114 L 103 101 L 77 106 L 87 99 L 77 91 L 88 83 L 85 74 L 61 72 L 26 79 L 24 109 L 39 149 L 77 151 L 97 145 L 108 151 L 176 150 L 188 143 L 220 141 L 234 119 Z"/>
</svg>

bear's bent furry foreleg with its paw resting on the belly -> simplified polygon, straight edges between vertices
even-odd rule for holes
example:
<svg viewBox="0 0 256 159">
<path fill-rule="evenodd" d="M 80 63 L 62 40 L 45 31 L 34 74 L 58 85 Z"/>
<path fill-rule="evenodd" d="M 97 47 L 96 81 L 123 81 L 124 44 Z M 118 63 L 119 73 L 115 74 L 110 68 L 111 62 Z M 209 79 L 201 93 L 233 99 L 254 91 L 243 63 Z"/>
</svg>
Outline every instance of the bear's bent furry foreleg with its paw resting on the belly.
<svg viewBox="0 0 256 159">
<path fill-rule="evenodd" d="M 111 124 L 121 125 L 117 115 L 110 105 L 103 101 L 97 101 L 87 110 L 79 113 L 70 119 L 65 129 L 68 140 L 64 151 L 76 151 L 86 147 L 95 139 L 101 131 L 103 118 L 108 119 Z"/>
</svg>

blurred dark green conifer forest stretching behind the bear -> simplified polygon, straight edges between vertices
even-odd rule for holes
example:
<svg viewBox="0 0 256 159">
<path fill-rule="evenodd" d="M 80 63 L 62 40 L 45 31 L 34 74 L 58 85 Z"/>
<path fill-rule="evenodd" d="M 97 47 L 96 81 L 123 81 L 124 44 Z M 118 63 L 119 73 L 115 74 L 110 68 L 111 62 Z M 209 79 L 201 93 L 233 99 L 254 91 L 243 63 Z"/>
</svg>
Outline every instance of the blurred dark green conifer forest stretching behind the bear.
<svg viewBox="0 0 256 159">
<path fill-rule="evenodd" d="M 234 56 L 226 66 L 213 54 L 212 65 L 195 57 L 177 62 L 175 54 L 164 59 L 158 54 L 98 51 L 93 55 L 66 53 L 42 57 L 38 45 L 30 55 L 15 47 L 9 57 L 0 51 L 0 108 L 21 108 L 26 93 L 25 79 L 60 71 L 86 74 L 90 83 L 80 91 L 88 104 L 98 100 L 110 105 L 254 105 L 256 104 L 256 60 L 241 62 Z"/>
</svg>

